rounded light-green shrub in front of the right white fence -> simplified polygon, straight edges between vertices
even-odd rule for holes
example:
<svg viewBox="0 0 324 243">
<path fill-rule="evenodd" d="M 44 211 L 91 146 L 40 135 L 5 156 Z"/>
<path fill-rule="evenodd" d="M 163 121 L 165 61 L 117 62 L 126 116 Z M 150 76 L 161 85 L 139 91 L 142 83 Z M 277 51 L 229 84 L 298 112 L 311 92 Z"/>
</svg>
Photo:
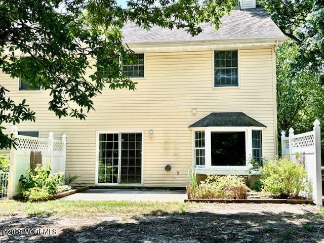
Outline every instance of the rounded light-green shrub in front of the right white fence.
<svg viewBox="0 0 324 243">
<path fill-rule="evenodd" d="M 303 166 L 288 158 L 267 160 L 260 168 L 262 191 L 273 197 L 297 197 L 307 186 Z"/>
</svg>

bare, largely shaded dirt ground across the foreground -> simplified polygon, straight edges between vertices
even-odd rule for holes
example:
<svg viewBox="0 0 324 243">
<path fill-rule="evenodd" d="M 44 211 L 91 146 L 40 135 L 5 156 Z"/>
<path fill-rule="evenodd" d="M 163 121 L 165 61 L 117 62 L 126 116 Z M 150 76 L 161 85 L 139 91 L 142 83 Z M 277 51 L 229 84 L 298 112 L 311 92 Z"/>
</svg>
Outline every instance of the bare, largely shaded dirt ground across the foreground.
<svg viewBox="0 0 324 243">
<path fill-rule="evenodd" d="M 1 242 L 324 242 L 316 206 L 192 204 L 184 213 L 139 216 L 0 218 Z M 51 235 L 4 235 L 4 229 L 55 229 Z"/>
</svg>

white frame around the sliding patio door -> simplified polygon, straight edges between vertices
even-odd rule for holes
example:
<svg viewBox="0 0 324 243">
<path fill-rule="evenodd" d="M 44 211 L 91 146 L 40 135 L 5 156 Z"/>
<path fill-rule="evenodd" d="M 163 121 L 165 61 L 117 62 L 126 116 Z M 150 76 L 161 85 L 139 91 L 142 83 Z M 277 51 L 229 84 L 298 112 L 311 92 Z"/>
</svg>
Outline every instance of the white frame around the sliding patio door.
<svg viewBox="0 0 324 243">
<path fill-rule="evenodd" d="M 106 133 L 118 133 L 118 182 L 117 183 L 99 183 L 99 135 Z M 119 184 L 119 172 L 120 172 L 120 134 L 121 133 L 141 133 L 142 134 L 142 168 L 141 168 L 141 184 Z M 144 131 L 143 130 L 108 130 L 108 131 L 96 131 L 96 168 L 95 168 L 95 186 L 143 186 L 144 184 Z"/>
</svg>

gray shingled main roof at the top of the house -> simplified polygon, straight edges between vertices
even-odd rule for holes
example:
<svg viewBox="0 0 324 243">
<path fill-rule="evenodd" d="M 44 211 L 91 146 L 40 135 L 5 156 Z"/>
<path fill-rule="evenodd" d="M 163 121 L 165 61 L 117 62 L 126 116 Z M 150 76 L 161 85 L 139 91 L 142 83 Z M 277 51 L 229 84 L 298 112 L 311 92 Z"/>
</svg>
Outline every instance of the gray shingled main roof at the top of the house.
<svg viewBox="0 0 324 243">
<path fill-rule="evenodd" d="M 215 30 L 210 23 L 202 23 L 203 32 L 191 36 L 184 29 L 164 29 L 152 26 L 150 31 L 127 23 L 123 28 L 125 43 L 196 42 L 230 39 L 284 38 L 276 24 L 262 8 L 233 10 L 222 18 L 222 25 Z"/>
</svg>

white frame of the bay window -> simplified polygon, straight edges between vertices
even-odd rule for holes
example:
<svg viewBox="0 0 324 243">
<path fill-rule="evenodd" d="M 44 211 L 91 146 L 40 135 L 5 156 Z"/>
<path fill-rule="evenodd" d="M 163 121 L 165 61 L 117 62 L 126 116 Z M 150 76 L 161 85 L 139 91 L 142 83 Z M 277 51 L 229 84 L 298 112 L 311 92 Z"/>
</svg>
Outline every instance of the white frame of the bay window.
<svg viewBox="0 0 324 243">
<path fill-rule="evenodd" d="M 262 131 L 262 153 L 264 151 L 264 128 L 262 127 L 202 127 L 192 129 L 192 142 L 194 142 L 195 131 L 205 131 L 205 166 L 196 166 L 195 157 L 192 157 L 192 166 L 197 168 L 198 174 L 238 174 L 248 175 L 251 169 L 249 160 L 252 158 L 252 130 Z M 212 166 L 211 155 L 211 133 L 212 132 L 245 132 L 246 139 L 246 166 Z M 194 150 L 194 144 L 192 144 L 192 150 Z M 194 155 L 194 151 L 192 153 Z"/>
</svg>

